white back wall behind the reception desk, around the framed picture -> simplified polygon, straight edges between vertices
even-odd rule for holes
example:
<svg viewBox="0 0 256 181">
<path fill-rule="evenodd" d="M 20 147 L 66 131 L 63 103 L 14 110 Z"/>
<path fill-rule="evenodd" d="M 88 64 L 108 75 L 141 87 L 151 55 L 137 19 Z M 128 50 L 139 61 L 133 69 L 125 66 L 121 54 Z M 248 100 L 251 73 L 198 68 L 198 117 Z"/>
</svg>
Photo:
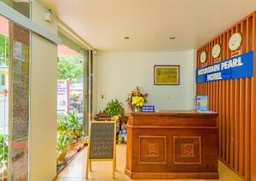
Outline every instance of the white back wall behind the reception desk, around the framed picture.
<svg viewBox="0 0 256 181">
<path fill-rule="evenodd" d="M 154 85 L 154 65 L 180 65 L 180 85 Z M 125 105 L 139 86 L 156 110 L 189 110 L 195 98 L 195 50 L 184 52 L 100 52 L 97 54 L 97 110 L 110 99 Z M 105 99 L 102 99 L 102 95 Z"/>
</svg>

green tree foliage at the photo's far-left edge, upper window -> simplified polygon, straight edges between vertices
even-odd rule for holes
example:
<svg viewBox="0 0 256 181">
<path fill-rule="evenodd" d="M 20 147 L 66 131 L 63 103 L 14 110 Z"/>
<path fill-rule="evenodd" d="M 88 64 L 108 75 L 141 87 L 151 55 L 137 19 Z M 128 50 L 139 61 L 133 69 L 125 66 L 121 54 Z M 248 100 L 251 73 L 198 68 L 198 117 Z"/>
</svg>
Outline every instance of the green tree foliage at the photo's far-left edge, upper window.
<svg viewBox="0 0 256 181">
<path fill-rule="evenodd" d="M 0 65 L 9 65 L 9 37 L 0 34 Z"/>
</svg>

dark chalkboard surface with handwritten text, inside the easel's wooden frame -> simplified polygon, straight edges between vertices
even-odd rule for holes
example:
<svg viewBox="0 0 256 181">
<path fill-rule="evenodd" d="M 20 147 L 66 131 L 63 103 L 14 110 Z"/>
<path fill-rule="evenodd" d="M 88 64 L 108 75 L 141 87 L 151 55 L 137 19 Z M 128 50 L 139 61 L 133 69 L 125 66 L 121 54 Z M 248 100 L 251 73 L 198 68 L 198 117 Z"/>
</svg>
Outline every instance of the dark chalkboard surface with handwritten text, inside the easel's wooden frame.
<svg viewBox="0 0 256 181">
<path fill-rule="evenodd" d="M 89 159 L 113 159 L 115 122 L 90 123 Z"/>
</svg>

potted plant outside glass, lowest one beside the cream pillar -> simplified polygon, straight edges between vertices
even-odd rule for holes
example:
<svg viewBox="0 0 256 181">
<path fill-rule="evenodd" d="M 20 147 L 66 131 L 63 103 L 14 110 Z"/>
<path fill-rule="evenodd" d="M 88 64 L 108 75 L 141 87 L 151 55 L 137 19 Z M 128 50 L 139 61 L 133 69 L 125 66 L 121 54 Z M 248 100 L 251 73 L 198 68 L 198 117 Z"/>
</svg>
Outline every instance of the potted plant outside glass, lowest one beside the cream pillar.
<svg viewBox="0 0 256 181">
<path fill-rule="evenodd" d="M 67 135 L 60 133 L 57 137 L 58 161 L 65 161 L 67 155 Z"/>
</svg>

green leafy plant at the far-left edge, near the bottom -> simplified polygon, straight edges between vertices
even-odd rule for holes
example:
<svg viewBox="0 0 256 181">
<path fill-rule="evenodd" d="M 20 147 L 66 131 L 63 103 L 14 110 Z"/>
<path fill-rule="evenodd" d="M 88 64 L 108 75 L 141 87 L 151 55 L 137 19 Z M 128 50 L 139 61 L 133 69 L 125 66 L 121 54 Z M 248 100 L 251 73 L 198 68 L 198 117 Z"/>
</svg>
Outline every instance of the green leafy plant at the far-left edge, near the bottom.
<svg viewBox="0 0 256 181">
<path fill-rule="evenodd" d="M 7 169 L 8 164 L 8 136 L 0 134 L 0 168 Z"/>
</svg>

